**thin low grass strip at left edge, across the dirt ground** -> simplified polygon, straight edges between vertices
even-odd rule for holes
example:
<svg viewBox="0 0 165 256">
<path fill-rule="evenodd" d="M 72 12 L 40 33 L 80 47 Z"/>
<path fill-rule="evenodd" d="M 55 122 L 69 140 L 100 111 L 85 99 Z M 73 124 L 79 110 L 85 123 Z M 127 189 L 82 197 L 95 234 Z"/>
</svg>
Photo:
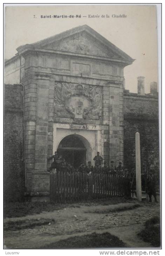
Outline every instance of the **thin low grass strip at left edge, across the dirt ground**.
<svg viewBox="0 0 165 256">
<path fill-rule="evenodd" d="M 27 228 L 34 228 L 36 226 L 48 225 L 49 222 L 55 223 L 52 219 L 29 219 L 29 220 L 20 220 L 20 221 L 8 221 L 4 223 L 4 231 L 7 230 L 20 230 Z"/>
</svg>

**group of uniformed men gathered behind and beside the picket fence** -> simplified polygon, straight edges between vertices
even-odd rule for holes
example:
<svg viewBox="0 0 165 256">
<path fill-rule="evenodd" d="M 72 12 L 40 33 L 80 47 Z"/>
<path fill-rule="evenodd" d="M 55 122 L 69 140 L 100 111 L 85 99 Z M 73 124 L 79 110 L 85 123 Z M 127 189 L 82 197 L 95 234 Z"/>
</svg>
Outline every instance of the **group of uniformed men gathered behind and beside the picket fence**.
<svg viewBox="0 0 165 256">
<path fill-rule="evenodd" d="M 66 162 L 65 159 L 63 159 L 62 155 L 58 155 L 57 152 L 51 157 L 48 158 L 48 160 L 54 159 L 53 163 L 51 164 L 50 168 L 47 169 L 49 172 L 52 169 L 56 168 L 66 168 L 68 174 L 76 171 L 80 171 L 82 173 L 86 173 L 88 175 L 97 173 L 97 174 L 111 174 L 111 175 L 119 175 L 122 177 L 128 177 L 130 178 L 131 182 L 131 189 L 132 191 L 136 190 L 136 172 L 135 169 L 124 169 L 122 162 L 119 162 L 118 167 L 114 165 L 114 161 L 110 162 L 110 166 L 107 164 L 106 161 L 104 161 L 103 164 L 103 158 L 99 155 L 99 152 L 97 152 L 97 155 L 94 157 L 95 166 L 91 165 L 91 161 L 88 161 L 88 164 L 86 165 L 84 162 L 80 164 L 80 167 L 74 168 L 70 163 Z M 102 167 L 103 165 L 103 167 Z M 146 193 L 149 196 L 149 202 L 152 202 L 152 195 L 154 196 L 155 202 L 157 202 L 156 197 L 156 186 L 157 186 L 157 179 L 156 175 L 154 174 L 154 168 L 149 170 L 149 173 L 142 174 L 144 176 L 143 179 L 145 179 L 145 189 Z M 142 182 L 143 183 L 143 182 Z M 136 193 L 136 192 L 135 192 Z"/>
</svg>

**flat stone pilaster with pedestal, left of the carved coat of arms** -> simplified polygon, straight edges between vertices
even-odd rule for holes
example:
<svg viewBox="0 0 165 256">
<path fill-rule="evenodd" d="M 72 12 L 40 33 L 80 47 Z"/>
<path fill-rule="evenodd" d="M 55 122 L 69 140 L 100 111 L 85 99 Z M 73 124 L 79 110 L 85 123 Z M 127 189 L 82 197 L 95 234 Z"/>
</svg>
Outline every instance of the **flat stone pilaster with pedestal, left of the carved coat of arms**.
<svg viewBox="0 0 165 256">
<path fill-rule="evenodd" d="M 48 123 L 49 123 L 49 86 L 47 75 L 37 77 L 36 103 L 36 136 L 35 136 L 35 165 L 32 176 L 32 193 L 49 190 L 49 173 L 47 172 Z"/>
</svg>

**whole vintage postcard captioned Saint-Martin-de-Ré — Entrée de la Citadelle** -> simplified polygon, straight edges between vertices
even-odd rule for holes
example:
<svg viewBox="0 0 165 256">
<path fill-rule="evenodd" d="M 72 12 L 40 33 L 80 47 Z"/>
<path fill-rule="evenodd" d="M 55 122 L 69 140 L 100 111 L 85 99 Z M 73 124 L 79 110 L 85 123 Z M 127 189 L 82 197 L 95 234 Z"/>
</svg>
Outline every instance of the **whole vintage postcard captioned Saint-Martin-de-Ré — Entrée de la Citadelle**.
<svg viewBox="0 0 165 256">
<path fill-rule="evenodd" d="M 6 251 L 161 248 L 157 52 L 156 5 L 5 7 Z"/>
</svg>

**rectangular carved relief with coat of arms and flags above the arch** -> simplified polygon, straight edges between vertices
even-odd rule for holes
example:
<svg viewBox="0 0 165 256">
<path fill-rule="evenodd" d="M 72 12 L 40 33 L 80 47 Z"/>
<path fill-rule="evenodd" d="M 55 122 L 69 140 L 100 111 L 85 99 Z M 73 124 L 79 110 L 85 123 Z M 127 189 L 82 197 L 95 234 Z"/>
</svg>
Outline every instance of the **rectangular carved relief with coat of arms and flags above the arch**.
<svg viewBox="0 0 165 256">
<path fill-rule="evenodd" d="M 101 119 L 101 89 L 100 86 L 55 82 L 55 116 L 73 119 Z"/>
</svg>

